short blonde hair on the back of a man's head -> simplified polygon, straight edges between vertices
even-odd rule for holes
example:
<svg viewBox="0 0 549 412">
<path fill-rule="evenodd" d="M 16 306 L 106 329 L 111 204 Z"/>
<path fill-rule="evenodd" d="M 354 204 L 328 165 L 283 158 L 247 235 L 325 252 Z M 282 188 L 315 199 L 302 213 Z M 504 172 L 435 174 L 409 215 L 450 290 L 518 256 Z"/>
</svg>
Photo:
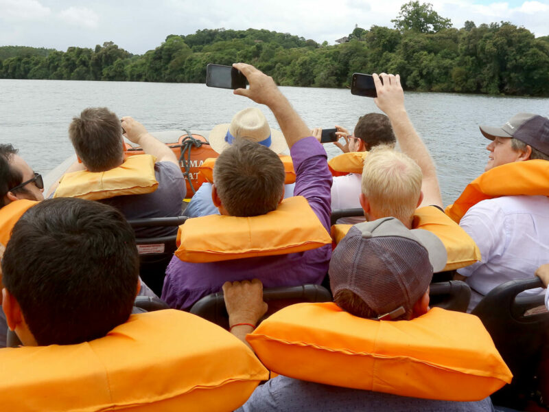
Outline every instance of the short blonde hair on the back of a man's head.
<svg viewBox="0 0 549 412">
<path fill-rule="evenodd" d="M 377 217 L 393 216 L 408 225 L 419 201 L 422 179 L 419 165 L 410 157 L 379 146 L 364 160 L 362 193 Z"/>
</svg>

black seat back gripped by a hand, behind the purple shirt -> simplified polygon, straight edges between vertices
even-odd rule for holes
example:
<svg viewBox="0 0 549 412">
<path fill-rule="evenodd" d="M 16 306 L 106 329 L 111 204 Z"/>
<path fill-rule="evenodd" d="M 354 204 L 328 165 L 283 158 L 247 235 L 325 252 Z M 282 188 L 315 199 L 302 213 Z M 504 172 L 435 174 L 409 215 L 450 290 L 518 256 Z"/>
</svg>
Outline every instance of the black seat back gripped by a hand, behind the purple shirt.
<svg viewBox="0 0 549 412">
<path fill-rule="evenodd" d="M 283 288 L 266 288 L 263 299 L 269 305 L 264 319 L 277 310 L 301 302 L 329 302 L 331 293 L 320 285 L 288 286 Z M 202 297 L 191 308 L 191 313 L 207 319 L 222 328 L 229 329 L 229 315 L 225 308 L 223 292 L 212 293 Z"/>
</svg>

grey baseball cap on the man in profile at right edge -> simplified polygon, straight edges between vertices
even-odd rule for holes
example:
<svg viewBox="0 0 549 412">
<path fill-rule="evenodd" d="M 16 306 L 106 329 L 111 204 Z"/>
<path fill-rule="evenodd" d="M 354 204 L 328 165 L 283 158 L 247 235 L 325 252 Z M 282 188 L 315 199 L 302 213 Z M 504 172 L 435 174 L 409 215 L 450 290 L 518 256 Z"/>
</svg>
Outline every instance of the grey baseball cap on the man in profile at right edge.
<svg viewBox="0 0 549 412">
<path fill-rule="evenodd" d="M 532 113 L 518 113 L 501 127 L 478 126 L 487 139 L 514 137 L 549 156 L 549 119 Z"/>
</svg>

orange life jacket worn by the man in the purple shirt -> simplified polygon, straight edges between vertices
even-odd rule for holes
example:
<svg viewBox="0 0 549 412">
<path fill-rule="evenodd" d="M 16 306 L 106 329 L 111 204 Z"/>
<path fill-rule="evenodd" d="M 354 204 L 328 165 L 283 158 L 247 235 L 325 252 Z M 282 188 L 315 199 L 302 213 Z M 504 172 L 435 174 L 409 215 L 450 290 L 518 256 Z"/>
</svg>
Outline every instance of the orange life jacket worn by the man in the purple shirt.
<svg viewBox="0 0 549 412">
<path fill-rule="evenodd" d="M 285 255 L 330 243 L 329 233 L 307 200 L 294 196 L 261 216 L 210 215 L 187 219 L 179 227 L 175 255 L 184 262 L 218 262 Z"/>
</svg>

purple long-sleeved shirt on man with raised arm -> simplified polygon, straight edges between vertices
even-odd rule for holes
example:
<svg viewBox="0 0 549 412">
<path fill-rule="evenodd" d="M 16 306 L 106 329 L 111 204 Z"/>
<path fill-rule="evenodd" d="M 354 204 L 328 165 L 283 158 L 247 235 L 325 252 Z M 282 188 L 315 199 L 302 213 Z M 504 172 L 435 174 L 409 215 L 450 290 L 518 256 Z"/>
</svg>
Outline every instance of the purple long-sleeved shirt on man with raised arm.
<svg viewBox="0 0 549 412">
<path fill-rule="evenodd" d="M 296 171 L 294 196 L 305 197 L 329 231 L 331 174 L 324 148 L 314 137 L 306 137 L 294 144 L 290 155 Z M 188 310 L 201 297 L 219 292 L 227 281 L 257 277 L 266 288 L 320 284 L 330 257 L 331 244 L 288 255 L 223 262 L 190 263 L 174 256 L 166 269 L 162 299 L 172 308 Z"/>
</svg>

